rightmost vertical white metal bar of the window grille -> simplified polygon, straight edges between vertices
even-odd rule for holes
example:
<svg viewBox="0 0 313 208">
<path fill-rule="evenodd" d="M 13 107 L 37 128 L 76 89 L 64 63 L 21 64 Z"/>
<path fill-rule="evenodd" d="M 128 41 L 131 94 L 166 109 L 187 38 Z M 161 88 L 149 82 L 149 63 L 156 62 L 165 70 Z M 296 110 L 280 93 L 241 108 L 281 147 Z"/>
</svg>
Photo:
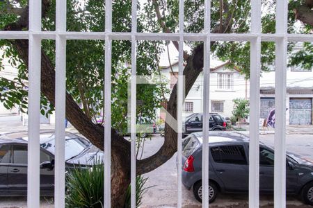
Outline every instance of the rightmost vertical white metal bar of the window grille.
<svg viewBox="0 0 313 208">
<path fill-rule="evenodd" d="M 286 207 L 286 76 L 288 1 L 276 2 L 274 207 Z"/>
</svg>

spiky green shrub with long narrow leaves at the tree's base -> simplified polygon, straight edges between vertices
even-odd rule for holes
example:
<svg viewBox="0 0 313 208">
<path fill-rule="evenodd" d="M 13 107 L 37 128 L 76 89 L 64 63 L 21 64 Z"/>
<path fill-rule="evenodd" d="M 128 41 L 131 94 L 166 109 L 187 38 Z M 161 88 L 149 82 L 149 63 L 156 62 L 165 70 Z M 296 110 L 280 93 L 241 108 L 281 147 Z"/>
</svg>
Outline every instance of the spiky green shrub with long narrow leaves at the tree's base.
<svg viewBox="0 0 313 208">
<path fill-rule="evenodd" d="M 139 175 L 136 177 L 136 205 L 141 205 L 143 194 L 147 190 L 144 187 L 147 178 Z M 95 164 L 93 168 L 74 167 L 66 178 L 65 207 L 82 208 L 104 207 L 104 166 Z M 127 189 L 125 208 L 130 207 L 131 187 Z"/>
</svg>

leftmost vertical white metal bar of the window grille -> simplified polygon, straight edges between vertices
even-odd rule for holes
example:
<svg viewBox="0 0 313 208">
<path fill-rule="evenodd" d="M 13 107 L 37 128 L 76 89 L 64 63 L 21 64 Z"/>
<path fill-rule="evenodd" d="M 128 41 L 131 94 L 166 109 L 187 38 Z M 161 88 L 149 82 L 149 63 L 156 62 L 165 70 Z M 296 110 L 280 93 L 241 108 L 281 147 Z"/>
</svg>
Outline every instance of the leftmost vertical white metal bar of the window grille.
<svg viewBox="0 0 313 208">
<path fill-rule="evenodd" d="M 29 1 L 29 144 L 27 168 L 27 207 L 40 205 L 40 66 L 41 39 L 32 32 L 41 31 L 41 1 Z"/>
</svg>

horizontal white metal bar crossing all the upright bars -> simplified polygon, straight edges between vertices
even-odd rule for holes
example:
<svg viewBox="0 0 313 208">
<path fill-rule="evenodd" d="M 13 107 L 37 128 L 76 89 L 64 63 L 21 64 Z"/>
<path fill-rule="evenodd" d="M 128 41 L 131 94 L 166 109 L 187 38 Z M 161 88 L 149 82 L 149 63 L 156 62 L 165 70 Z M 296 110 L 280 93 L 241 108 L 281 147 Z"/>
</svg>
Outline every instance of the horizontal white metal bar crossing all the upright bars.
<svg viewBox="0 0 313 208">
<path fill-rule="evenodd" d="M 28 39 L 28 31 L 0 31 L 0 39 Z M 58 33 L 55 31 L 42 31 L 31 33 L 32 35 L 39 36 L 42 39 L 55 40 L 56 35 L 65 36 L 66 40 L 104 40 L 106 32 L 65 32 Z M 111 40 L 131 40 L 131 33 L 108 33 Z M 178 33 L 134 33 L 136 40 L 169 40 L 179 41 Z M 204 41 L 206 36 L 202 33 L 184 33 L 182 34 L 184 41 Z M 313 42 L 313 35 L 311 34 L 210 34 L 211 41 L 250 41 L 256 37 L 261 37 L 262 41 L 274 42 L 282 37 L 287 37 L 289 42 Z"/>
</svg>

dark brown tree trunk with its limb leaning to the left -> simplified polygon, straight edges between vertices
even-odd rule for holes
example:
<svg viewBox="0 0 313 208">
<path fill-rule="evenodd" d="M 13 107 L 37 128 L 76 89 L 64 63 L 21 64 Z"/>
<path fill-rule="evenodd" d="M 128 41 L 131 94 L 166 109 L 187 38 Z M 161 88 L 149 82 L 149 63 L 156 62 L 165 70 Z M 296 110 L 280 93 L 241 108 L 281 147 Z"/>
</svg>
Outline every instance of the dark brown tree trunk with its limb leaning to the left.
<svg viewBox="0 0 313 208">
<path fill-rule="evenodd" d="M 28 67 L 29 41 L 10 41 L 19 57 Z M 39 77 L 38 77 L 39 78 Z M 42 51 L 41 92 L 49 102 L 55 104 L 55 71 L 51 61 Z M 70 94 L 66 94 L 66 117 L 82 135 L 97 148 L 104 150 L 104 128 L 96 125 L 79 108 Z M 130 144 L 129 141 L 111 130 L 111 207 L 124 207 L 126 190 L 130 183 Z"/>
</svg>

